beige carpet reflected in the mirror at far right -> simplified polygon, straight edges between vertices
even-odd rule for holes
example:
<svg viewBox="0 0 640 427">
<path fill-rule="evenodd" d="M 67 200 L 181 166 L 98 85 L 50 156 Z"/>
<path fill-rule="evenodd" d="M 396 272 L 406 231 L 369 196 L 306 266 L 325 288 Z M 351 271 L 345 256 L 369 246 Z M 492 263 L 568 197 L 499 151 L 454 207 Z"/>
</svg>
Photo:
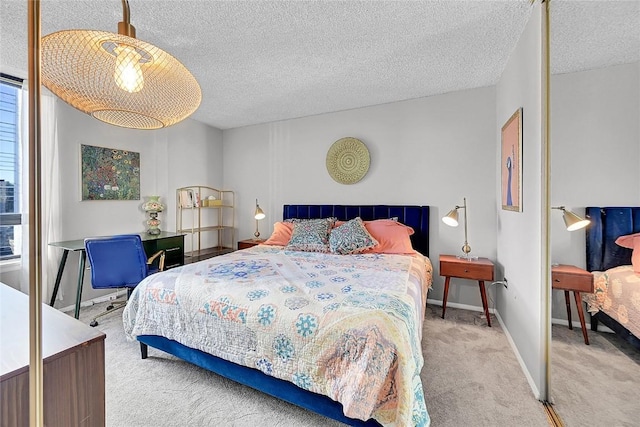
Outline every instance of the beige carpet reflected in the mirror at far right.
<svg viewBox="0 0 640 427">
<path fill-rule="evenodd" d="M 640 351 L 614 334 L 553 325 L 551 391 L 567 427 L 640 425 Z"/>
</svg>

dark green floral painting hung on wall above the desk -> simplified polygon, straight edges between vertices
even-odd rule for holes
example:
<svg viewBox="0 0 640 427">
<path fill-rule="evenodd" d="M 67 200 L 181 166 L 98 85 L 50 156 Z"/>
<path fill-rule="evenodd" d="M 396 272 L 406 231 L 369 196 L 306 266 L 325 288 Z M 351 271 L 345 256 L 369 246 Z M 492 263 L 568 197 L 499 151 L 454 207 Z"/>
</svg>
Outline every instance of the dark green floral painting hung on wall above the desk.
<svg viewBox="0 0 640 427">
<path fill-rule="evenodd" d="M 140 153 L 80 145 L 82 200 L 140 200 Z"/>
</svg>

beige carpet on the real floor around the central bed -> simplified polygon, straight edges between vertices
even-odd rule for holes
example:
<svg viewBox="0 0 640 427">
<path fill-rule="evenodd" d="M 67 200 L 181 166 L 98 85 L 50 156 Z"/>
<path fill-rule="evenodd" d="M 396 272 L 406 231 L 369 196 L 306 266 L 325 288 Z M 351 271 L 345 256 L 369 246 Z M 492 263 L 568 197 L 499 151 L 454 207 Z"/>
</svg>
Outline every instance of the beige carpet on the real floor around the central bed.
<svg viewBox="0 0 640 427">
<path fill-rule="evenodd" d="M 81 320 L 104 304 L 83 308 Z M 427 307 L 422 381 L 433 427 L 548 426 L 496 319 L 480 313 Z M 106 412 L 109 427 L 339 426 L 216 374 L 139 346 L 122 331 L 121 311 L 100 320 L 106 338 Z"/>
</svg>

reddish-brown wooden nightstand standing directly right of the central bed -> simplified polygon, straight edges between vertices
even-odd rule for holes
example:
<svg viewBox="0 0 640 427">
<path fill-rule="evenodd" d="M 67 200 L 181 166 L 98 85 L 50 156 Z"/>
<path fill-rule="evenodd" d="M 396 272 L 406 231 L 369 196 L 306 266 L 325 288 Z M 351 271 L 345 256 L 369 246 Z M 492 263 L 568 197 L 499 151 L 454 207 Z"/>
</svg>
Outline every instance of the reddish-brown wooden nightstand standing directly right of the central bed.
<svg viewBox="0 0 640 427">
<path fill-rule="evenodd" d="M 489 305 L 487 304 L 487 291 L 484 287 L 485 280 L 493 281 L 493 262 L 488 258 L 477 258 L 467 260 L 454 255 L 440 255 L 440 275 L 444 280 L 444 296 L 442 298 L 442 318 L 447 310 L 447 295 L 449 294 L 449 283 L 452 277 L 460 279 L 477 280 L 480 286 L 480 297 L 482 298 L 482 308 L 487 317 L 487 325 L 491 326 L 491 316 L 489 315 Z"/>
</svg>

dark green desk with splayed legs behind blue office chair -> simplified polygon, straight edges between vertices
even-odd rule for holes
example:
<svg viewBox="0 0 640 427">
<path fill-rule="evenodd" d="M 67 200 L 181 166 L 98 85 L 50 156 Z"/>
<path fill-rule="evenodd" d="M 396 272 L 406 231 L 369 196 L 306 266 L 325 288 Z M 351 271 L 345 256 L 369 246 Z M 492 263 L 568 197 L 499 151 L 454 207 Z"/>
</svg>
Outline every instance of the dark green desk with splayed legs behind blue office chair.
<svg viewBox="0 0 640 427">
<path fill-rule="evenodd" d="M 164 250 L 165 255 L 165 268 L 169 269 L 184 264 L 184 234 L 176 234 L 168 231 L 163 231 L 158 235 L 151 235 L 148 233 L 133 233 L 138 234 L 142 239 L 142 245 L 144 251 L 147 254 L 154 254 L 159 250 Z M 61 248 L 62 258 L 60 259 L 60 265 L 58 266 L 58 274 L 56 275 L 56 282 L 53 287 L 53 294 L 51 295 L 51 301 L 49 305 L 53 307 L 56 302 L 56 296 L 58 296 L 58 289 L 60 288 L 60 280 L 62 279 L 62 273 L 64 272 L 64 266 L 67 263 L 67 256 L 69 252 L 80 251 L 80 257 L 78 259 L 78 288 L 76 291 L 76 309 L 74 317 L 77 319 L 80 316 L 80 302 L 82 301 L 82 284 L 84 282 L 84 268 L 87 260 L 87 254 L 84 250 L 84 239 L 67 240 L 65 242 L 53 242 L 49 243 L 49 246 L 55 246 Z"/>
</svg>

